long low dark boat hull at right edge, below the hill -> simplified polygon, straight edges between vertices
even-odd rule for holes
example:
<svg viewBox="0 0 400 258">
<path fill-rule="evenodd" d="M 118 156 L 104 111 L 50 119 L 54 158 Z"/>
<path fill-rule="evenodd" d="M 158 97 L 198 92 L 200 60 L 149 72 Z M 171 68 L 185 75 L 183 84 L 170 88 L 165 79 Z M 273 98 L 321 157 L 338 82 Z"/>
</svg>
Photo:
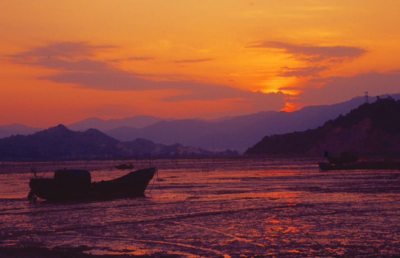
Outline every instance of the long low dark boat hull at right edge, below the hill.
<svg viewBox="0 0 400 258">
<path fill-rule="evenodd" d="M 356 169 L 369 169 L 369 170 L 399 170 L 400 161 L 362 161 L 350 164 L 329 164 L 326 162 L 318 162 L 318 166 L 321 170 L 356 170 Z"/>
</svg>

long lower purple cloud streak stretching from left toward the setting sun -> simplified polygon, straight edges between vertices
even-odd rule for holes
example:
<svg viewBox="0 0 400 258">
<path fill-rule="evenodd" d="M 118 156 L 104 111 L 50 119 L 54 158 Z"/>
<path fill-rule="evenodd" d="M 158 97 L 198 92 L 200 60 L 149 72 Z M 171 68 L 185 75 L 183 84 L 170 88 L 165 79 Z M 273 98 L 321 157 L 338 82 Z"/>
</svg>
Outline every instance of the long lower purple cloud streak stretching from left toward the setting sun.
<svg viewBox="0 0 400 258">
<path fill-rule="evenodd" d="M 129 72 L 66 72 L 40 77 L 57 83 L 74 83 L 83 88 L 101 90 L 161 90 L 175 89 L 182 94 L 161 98 L 163 102 L 181 102 L 190 100 L 234 99 L 234 101 L 251 103 L 254 111 L 280 110 L 284 108 L 282 92 L 263 93 L 260 91 L 242 90 L 216 84 L 203 84 L 195 81 L 150 81 Z"/>
</svg>

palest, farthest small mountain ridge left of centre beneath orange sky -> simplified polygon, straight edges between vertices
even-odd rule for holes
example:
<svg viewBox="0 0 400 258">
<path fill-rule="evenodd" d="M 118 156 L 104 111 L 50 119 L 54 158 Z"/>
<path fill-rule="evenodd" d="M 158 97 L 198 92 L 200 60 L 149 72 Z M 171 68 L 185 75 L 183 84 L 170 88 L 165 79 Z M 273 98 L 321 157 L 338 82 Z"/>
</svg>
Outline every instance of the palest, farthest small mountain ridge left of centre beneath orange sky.
<svg viewBox="0 0 400 258">
<path fill-rule="evenodd" d="M 109 119 L 109 120 L 103 120 L 101 118 L 91 117 L 91 118 L 87 118 L 87 119 L 84 119 L 79 122 L 75 122 L 75 123 L 66 125 L 66 127 L 68 129 L 71 129 L 74 131 L 85 131 L 89 128 L 96 128 L 100 131 L 106 131 L 106 130 L 111 130 L 111 129 L 121 127 L 121 126 L 142 128 L 146 125 L 154 124 L 158 121 L 163 121 L 163 120 L 171 121 L 173 119 L 172 118 L 164 119 L 164 118 L 148 116 L 148 115 L 136 115 L 136 116 L 132 116 L 132 117 L 125 117 L 122 119 Z"/>
</svg>

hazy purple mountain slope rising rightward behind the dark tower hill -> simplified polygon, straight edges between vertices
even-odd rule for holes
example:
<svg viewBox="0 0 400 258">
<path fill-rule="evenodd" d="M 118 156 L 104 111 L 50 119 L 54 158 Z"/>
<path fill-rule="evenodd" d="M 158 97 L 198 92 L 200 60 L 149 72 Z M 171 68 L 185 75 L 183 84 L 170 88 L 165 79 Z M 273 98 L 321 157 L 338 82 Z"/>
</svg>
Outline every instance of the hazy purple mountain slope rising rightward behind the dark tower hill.
<svg viewBox="0 0 400 258">
<path fill-rule="evenodd" d="M 400 98 L 400 93 L 392 96 Z M 361 105 L 364 99 L 355 97 L 342 103 L 306 106 L 293 112 L 262 111 L 214 122 L 193 119 L 160 121 L 139 129 L 124 126 L 104 132 L 123 141 L 145 138 L 163 144 L 179 142 L 205 149 L 229 148 L 242 152 L 265 135 L 316 128 Z M 370 101 L 373 99 L 375 97 L 369 97 Z"/>
</svg>

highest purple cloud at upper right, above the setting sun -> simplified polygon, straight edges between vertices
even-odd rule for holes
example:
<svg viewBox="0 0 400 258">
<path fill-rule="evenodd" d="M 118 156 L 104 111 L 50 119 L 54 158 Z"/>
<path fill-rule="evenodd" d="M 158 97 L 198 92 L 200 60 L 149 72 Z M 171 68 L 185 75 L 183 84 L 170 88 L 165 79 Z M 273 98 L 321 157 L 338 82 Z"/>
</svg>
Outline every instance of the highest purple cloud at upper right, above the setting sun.
<svg viewBox="0 0 400 258">
<path fill-rule="evenodd" d="M 295 59 L 308 62 L 342 62 L 361 56 L 365 49 L 354 46 L 315 46 L 309 44 L 289 44 L 280 41 L 264 41 L 245 48 L 273 48 L 291 54 Z"/>
</svg>

